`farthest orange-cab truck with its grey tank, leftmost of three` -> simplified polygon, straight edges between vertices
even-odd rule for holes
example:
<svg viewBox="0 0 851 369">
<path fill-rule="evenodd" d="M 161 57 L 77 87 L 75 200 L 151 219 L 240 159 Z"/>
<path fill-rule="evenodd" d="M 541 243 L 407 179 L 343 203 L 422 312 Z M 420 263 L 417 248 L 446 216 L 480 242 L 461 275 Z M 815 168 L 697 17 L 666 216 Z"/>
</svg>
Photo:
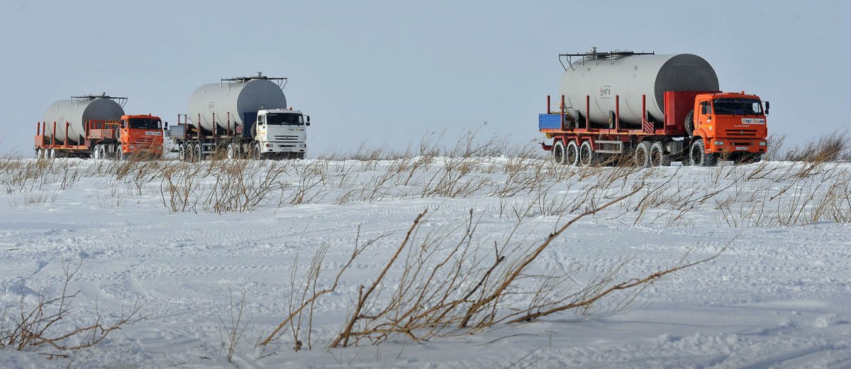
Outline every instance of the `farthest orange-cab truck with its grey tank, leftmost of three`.
<svg viewBox="0 0 851 369">
<path fill-rule="evenodd" d="M 125 114 L 126 101 L 103 94 L 54 102 L 37 124 L 36 157 L 120 160 L 138 153 L 162 157 L 162 120 L 151 114 Z"/>
</svg>

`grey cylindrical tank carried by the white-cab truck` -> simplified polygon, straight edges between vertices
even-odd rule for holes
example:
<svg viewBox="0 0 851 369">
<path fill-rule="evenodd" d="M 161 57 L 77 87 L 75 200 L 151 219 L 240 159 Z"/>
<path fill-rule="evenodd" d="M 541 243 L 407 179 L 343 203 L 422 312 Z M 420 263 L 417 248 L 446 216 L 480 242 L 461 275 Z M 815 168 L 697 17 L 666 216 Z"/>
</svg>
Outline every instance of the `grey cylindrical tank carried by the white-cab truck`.
<svg viewBox="0 0 851 369">
<path fill-rule="evenodd" d="M 219 132 L 234 132 L 238 125 L 246 123 L 250 126 L 258 110 L 287 107 L 283 90 L 272 82 L 283 79 L 258 73 L 256 77 L 227 78 L 218 84 L 204 84 L 189 96 L 189 120 L 208 132 L 213 132 L 214 125 L 218 125 Z"/>
</svg>

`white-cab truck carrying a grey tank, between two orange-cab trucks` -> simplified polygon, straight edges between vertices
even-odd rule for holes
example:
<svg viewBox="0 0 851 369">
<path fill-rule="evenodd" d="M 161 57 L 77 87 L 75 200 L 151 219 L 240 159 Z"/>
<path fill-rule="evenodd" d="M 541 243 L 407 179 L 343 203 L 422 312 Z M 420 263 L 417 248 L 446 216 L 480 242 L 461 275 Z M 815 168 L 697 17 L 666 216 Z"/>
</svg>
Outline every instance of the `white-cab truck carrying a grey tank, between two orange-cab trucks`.
<svg viewBox="0 0 851 369">
<path fill-rule="evenodd" d="M 287 107 L 286 81 L 257 73 L 198 87 L 188 113 L 168 130 L 173 151 L 190 161 L 214 153 L 228 159 L 304 159 L 310 117 Z"/>
</svg>

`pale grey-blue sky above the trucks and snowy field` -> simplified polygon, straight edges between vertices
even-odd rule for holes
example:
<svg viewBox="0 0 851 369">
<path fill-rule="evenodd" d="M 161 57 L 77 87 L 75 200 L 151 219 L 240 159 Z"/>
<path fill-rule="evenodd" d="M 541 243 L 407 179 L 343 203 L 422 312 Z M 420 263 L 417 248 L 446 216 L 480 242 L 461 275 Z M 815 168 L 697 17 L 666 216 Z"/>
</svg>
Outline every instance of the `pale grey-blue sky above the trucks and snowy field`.
<svg viewBox="0 0 851 369">
<path fill-rule="evenodd" d="M 174 122 L 201 84 L 260 71 L 311 115 L 311 157 L 442 130 L 540 140 L 557 55 L 591 46 L 700 55 L 797 144 L 848 125 L 849 4 L 3 0 L 0 154 L 31 155 L 36 122 L 71 95 Z"/>
</svg>

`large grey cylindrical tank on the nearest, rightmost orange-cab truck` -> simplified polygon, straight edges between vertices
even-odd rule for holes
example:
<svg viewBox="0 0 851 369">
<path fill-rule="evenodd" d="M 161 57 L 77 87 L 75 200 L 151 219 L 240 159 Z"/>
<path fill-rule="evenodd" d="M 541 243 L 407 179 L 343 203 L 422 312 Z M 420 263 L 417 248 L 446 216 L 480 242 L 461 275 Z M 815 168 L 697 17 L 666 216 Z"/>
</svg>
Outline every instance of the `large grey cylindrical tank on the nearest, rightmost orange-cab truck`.
<svg viewBox="0 0 851 369">
<path fill-rule="evenodd" d="M 568 112 L 585 115 L 585 95 L 591 96 L 592 127 L 608 128 L 609 112 L 620 96 L 620 124 L 639 126 L 642 95 L 646 95 L 648 119 L 665 118 L 665 91 L 717 91 L 715 70 L 698 55 L 632 55 L 629 52 L 591 53 L 570 63 L 562 75 L 559 93 Z"/>
</svg>

